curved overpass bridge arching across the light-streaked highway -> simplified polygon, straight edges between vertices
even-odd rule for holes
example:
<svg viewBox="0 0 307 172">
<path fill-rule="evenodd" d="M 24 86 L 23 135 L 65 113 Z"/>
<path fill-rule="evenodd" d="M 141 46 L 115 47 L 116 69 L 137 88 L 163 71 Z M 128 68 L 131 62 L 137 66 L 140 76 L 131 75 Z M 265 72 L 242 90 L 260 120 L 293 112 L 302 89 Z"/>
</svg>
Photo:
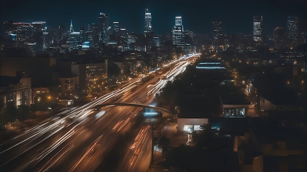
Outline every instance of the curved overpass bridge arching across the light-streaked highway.
<svg viewBox="0 0 307 172">
<path fill-rule="evenodd" d="M 125 107 L 140 107 L 140 108 L 153 108 L 153 109 L 157 109 L 157 110 L 161 110 L 161 111 L 165 111 L 168 113 L 171 113 L 171 111 L 167 108 L 162 108 L 162 107 L 156 107 L 153 105 L 146 105 L 146 104 L 140 104 L 140 103 L 108 103 L 108 104 L 100 104 L 100 105 L 96 105 L 93 107 L 93 109 L 101 109 L 103 107 L 112 107 L 112 106 L 125 106 Z"/>
</svg>

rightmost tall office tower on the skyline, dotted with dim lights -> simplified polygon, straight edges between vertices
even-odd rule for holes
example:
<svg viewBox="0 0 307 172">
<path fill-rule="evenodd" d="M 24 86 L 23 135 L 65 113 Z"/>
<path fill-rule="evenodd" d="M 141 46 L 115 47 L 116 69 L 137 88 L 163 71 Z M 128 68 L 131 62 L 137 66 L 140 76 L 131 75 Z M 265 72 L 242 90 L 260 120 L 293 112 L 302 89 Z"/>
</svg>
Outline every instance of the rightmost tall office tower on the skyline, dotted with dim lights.
<svg viewBox="0 0 307 172">
<path fill-rule="evenodd" d="M 288 17 L 287 20 L 287 38 L 291 47 L 298 45 L 298 18 Z"/>
</svg>

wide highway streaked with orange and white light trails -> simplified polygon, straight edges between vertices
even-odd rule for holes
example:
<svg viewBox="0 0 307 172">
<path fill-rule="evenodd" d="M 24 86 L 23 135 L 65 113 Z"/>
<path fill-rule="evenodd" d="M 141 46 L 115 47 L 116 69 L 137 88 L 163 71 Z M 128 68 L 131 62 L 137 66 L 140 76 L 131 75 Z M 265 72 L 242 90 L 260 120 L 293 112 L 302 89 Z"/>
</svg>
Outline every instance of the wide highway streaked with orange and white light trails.
<svg viewBox="0 0 307 172">
<path fill-rule="evenodd" d="M 57 171 L 93 172 L 112 153 L 114 145 L 129 133 L 141 108 L 93 107 L 104 103 L 130 102 L 149 105 L 155 94 L 168 81 L 185 70 L 196 56 L 180 59 L 149 82 L 142 78 L 130 81 L 121 88 L 83 106 L 67 109 L 31 129 L 0 143 L 0 171 Z M 141 132 L 143 130 L 143 132 Z M 122 152 L 124 161 L 117 166 L 127 171 L 146 171 L 151 158 L 151 129 L 141 127 L 136 142 L 127 144 Z M 131 145 L 132 144 L 132 145 Z M 134 144 L 134 146 L 133 146 Z M 131 147 L 134 147 L 130 149 Z M 140 158 L 142 157 L 142 158 Z M 125 170 L 125 171 L 126 171 Z"/>
</svg>

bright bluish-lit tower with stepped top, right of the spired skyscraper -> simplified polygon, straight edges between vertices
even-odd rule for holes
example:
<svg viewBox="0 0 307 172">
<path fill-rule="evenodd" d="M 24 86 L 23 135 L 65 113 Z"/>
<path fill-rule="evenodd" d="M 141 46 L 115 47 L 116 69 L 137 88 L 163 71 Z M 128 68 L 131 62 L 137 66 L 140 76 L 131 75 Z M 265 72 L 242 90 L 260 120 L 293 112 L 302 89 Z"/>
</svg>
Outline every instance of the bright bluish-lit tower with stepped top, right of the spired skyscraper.
<svg viewBox="0 0 307 172">
<path fill-rule="evenodd" d="M 173 45 L 184 43 L 184 32 L 183 32 L 181 16 L 176 16 L 175 18 L 175 25 L 173 26 L 172 30 L 172 40 L 173 40 Z"/>
</svg>

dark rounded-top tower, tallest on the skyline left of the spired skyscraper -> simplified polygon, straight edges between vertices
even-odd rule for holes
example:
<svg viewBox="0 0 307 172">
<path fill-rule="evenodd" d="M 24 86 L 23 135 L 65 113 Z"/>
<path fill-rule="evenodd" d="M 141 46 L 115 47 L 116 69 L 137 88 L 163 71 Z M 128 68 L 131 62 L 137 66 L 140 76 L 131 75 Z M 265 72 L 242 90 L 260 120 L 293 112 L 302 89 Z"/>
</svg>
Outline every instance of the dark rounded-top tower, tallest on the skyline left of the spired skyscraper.
<svg viewBox="0 0 307 172">
<path fill-rule="evenodd" d="M 100 43 L 110 41 L 109 17 L 104 13 L 98 18 L 98 34 Z"/>
</svg>

